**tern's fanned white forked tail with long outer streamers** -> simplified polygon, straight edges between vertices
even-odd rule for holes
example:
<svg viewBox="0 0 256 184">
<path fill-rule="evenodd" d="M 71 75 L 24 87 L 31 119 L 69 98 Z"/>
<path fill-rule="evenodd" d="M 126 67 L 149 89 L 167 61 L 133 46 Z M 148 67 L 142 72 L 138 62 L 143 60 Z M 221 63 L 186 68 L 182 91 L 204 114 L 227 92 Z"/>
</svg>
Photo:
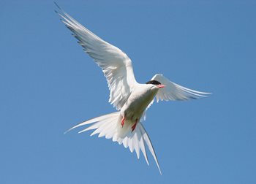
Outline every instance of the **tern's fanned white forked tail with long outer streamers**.
<svg viewBox="0 0 256 184">
<path fill-rule="evenodd" d="M 148 156 L 146 153 L 145 145 L 148 145 L 148 150 L 151 152 L 152 156 L 154 157 L 154 160 L 157 163 L 159 172 L 162 175 L 162 172 L 159 168 L 159 164 L 157 161 L 157 156 L 154 152 L 154 147 L 143 125 L 141 123 L 137 123 L 136 128 L 132 130 L 130 129 L 132 123 L 125 122 L 124 126 L 121 126 L 121 119 L 122 117 L 120 112 L 113 112 L 107 115 L 99 116 L 97 118 L 92 118 L 91 120 L 86 120 L 82 123 L 79 123 L 76 126 L 73 126 L 68 131 L 78 128 L 79 126 L 91 124 L 91 126 L 79 131 L 78 133 L 95 129 L 91 133 L 91 136 L 93 136 L 94 134 L 99 134 L 98 137 L 106 137 L 106 139 L 112 138 L 113 142 L 118 142 L 119 145 L 123 144 L 124 147 L 126 148 L 129 147 L 129 150 L 131 152 L 135 150 L 138 158 L 140 158 L 140 150 L 141 150 L 141 152 L 143 153 L 143 156 L 146 159 L 147 164 L 148 164 Z"/>
</svg>

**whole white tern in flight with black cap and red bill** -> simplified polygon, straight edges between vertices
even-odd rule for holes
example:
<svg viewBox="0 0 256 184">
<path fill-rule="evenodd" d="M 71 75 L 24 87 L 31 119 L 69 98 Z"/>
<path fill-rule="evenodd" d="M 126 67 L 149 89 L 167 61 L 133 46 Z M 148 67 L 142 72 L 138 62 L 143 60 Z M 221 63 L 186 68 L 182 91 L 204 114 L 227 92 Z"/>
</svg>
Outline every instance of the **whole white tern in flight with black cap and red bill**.
<svg viewBox="0 0 256 184">
<path fill-rule="evenodd" d="M 155 74 L 146 84 L 138 83 L 133 73 L 132 61 L 126 53 L 97 37 L 60 7 L 59 10 L 60 12 L 57 13 L 61 16 L 61 21 L 72 31 L 72 35 L 78 39 L 83 50 L 101 67 L 108 81 L 109 102 L 118 110 L 86 120 L 68 131 L 91 124 L 79 133 L 96 129 L 91 136 L 99 134 L 99 137 L 112 138 L 113 142 L 129 147 L 131 152 L 135 150 L 138 158 L 140 158 L 141 150 L 148 164 L 147 145 L 162 175 L 154 147 L 141 123 L 146 119 L 146 110 L 153 104 L 155 97 L 157 102 L 159 100 L 188 100 L 206 97 L 208 93 L 184 88 L 171 82 L 162 74 Z"/>
</svg>

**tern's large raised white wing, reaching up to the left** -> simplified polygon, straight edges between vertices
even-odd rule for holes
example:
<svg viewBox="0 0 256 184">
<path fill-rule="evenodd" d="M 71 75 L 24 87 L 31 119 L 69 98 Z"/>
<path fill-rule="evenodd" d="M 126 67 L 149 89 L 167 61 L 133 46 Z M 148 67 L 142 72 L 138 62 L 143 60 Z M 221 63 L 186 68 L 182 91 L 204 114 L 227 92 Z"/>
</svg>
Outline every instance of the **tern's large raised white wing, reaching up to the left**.
<svg viewBox="0 0 256 184">
<path fill-rule="evenodd" d="M 100 39 L 61 8 L 59 10 L 60 12 L 57 13 L 61 16 L 61 21 L 72 31 L 72 35 L 78 39 L 83 50 L 101 67 L 110 89 L 109 102 L 117 110 L 120 110 L 137 83 L 132 69 L 132 61 L 118 47 Z"/>
</svg>

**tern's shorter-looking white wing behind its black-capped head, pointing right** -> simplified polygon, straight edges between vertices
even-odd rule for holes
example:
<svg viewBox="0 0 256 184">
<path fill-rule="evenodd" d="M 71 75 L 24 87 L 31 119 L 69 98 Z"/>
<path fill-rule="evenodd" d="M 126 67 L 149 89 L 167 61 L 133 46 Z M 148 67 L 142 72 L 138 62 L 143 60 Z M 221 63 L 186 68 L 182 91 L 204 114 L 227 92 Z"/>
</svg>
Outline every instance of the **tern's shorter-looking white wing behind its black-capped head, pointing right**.
<svg viewBox="0 0 256 184">
<path fill-rule="evenodd" d="M 189 99 L 199 99 L 201 97 L 206 97 L 210 93 L 195 91 L 189 88 L 185 88 L 181 85 L 171 82 L 162 74 L 155 74 L 151 80 L 157 80 L 162 85 L 165 85 L 165 88 L 160 88 L 157 92 L 156 98 L 157 102 L 159 100 L 189 100 Z"/>
</svg>

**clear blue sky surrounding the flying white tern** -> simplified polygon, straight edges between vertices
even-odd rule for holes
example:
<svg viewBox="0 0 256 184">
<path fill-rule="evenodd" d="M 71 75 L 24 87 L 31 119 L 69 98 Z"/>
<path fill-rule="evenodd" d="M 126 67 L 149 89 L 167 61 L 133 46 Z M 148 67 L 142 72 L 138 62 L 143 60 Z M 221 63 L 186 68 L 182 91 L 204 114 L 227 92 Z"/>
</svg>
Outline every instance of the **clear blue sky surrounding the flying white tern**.
<svg viewBox="0 0 256 184">
<path fill-rule="evenodd" d="M 0 183 L 256 183 L 256 1 L 57 1 L 132 59 L 206 99 L 148 110 L 154 159 L 75 124 L 114 112 L 108 85 L 53 11 L 0 1 Z"/>
</svg>

